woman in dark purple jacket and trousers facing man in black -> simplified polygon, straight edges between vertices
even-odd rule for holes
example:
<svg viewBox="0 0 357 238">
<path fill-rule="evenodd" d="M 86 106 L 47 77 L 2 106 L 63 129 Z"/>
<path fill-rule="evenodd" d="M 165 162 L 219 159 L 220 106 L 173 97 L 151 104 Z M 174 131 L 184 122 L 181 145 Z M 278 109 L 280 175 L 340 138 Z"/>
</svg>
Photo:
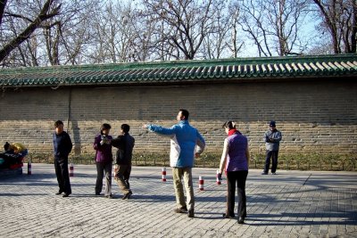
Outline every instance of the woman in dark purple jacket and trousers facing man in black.
<svg viewBox="0 0 357 238">
<path fill-rule="evenodd" d="M 95 136 L 95 163 L 96 183 L 95 195 L 100 195 L 103 188 L 103 177 L 105 173 L 104 197 L 112 199 L 112 135 L 111 125 L 104 123 L 100 128 L 100 134 Z"/>
</svg>

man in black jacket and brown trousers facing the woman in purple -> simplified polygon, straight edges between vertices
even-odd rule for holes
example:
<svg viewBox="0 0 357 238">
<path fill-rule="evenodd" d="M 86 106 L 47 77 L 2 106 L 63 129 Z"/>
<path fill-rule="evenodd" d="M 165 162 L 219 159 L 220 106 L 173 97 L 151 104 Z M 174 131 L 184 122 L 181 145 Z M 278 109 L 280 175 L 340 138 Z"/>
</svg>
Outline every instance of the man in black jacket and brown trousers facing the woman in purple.
<svg viewBox="0 0 357 238">
<path fill-rule="evenodd" d="M 118 172 L 114 175 L 120 190 L 124 193 L 122 199 L 129 199 L 132 192 L 129 185 L 129 176 L 131 172 L 131 158 L 135 139 L 129 135 L 129 125 L 122 124 L 120 134 L 117 138 L 112 139 L 112 146 L 118 148 L 115 163 L 118 165 Z"/>
</svg>

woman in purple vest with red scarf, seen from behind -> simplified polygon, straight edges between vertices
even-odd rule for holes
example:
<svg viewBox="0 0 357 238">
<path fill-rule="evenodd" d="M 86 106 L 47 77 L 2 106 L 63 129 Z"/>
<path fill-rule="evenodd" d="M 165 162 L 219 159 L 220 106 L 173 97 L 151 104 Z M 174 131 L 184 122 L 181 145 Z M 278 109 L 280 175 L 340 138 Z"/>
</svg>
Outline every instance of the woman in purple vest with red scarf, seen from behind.
<svg viewBox="0 0 357 238">
<path fill-rule="evenodd" d="M 227 209 L 223 217 L 235 217 L 234 206 L 237 184 L 238 223 L 243 224 L 246 217 L 245 181 L 248 176 L 250 158 L 248 139 L 236 129 L 235 123 L 231 120 L 228 120 L 222 127 L 228 135 L 224 140 L 218 174 L 219 179 L 221 179 L 223 170 L 227 173 Z"/>
</svg>

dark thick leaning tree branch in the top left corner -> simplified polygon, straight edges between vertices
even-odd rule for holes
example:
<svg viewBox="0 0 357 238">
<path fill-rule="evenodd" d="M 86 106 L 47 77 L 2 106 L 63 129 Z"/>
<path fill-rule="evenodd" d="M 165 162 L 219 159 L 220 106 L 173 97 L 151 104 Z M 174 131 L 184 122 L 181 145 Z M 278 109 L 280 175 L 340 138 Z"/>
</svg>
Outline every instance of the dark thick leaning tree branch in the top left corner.
<svg viewBox="0 0 357 238">
<path fill-rule="evenodd" d="M 2 38 L 5 41 L 1 42 L 0 48 L 0 62 L 4 65 L 4 59 L 8 57 L 13 50 L 19 47 L 23 42 L 27 41 L 31 34 L 38 28 L 41 27 L 41 24 L 44 21 L 47 21 L 54 16 L 58 15 L 61 9 L 61 4 L 56 0 L 38 0 L 36 3 L 27 5 L 29 10 L 35 9 L 37 13 L 35 15 L 25 15 L 21 12 L 15 12 L 14 10 L 18 9 L 16 4 L 27 4 L 27 1 L 16 1 L 10 5 L 7 5 L 7 1 L 0 2 L 0 22 L 2 31 L 5 30 L 7 33 L 10 33 L 8 22 L 14 21 L 23 21 L 26 22 L 26 27 L 24 29 L 17 29 L 16 34 L 2 35 Z M 3 13 L 2 13 L 3 12 Z M 5 23 L 4 23 L 5 22 Z"/>
</svg>

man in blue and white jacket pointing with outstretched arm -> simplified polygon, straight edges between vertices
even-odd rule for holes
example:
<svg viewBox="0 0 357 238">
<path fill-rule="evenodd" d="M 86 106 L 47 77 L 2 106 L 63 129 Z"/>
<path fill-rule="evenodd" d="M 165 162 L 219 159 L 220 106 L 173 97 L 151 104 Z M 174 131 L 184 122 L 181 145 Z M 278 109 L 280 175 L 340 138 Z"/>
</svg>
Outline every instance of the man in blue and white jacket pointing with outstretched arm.
<svg viewBox="0 0 357 238">
<path fill-rule="evenodd" d="M 178 204 L 178 208 L 174 211 L 177 213 L 187 213 L 188 211 L 188 217 L 195 217 L 192 168 L 194 167 L 194 156 L 195 158 L 200 156 L 204 150 L 205 142 L 198 130 L 189 125 L 188 115 L 187 110 L 180 109 L 176 118 L 178 124 L 170 128 L 155 125 L 144 125 L 143 127 L 160 135 L 170 135 L 170 167 L 172 168 L 173 185 Z M 181 182 L 182 177 L 186 187 L 187 202 Z"/>
</svg>

